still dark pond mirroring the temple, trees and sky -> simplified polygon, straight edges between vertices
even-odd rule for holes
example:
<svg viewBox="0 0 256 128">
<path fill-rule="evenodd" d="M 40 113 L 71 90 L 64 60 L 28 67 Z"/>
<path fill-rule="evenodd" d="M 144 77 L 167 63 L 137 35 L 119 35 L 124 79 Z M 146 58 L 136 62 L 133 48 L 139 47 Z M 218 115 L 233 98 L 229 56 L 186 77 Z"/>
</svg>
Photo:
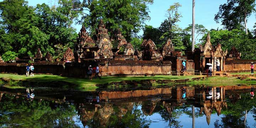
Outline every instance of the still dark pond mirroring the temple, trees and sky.
<svg viewBox="0 0 256 128">
<path fill-rule="evenodd" d="M 21 90 L 5 90 L 0 91 L 0 127 L 255 128 L 256 100 L 250 98 L 249 88 L 187 87 L 183 99 L 176 87 L 170 94 L 126 100 L 101 97 L 99 103 L 98 92 L 38 91 L 37 98 L 28 100 Z M 206 98 L 212 89 L 221 91 L 219 98 Z"/>
</svg>

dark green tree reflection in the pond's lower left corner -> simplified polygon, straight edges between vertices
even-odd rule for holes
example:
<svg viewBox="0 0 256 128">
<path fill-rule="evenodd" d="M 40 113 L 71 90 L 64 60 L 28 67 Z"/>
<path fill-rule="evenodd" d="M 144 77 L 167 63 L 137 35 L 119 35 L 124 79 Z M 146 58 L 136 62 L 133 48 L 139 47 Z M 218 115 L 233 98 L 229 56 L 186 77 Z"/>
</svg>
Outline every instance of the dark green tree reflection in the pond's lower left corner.
<svg viewBox="0 0 256 128">
<path fill-rule="evenodd" d="M 0 127 L 15 123 L 21 124 L 21 127 L 77 127 L 73 121 L 76 114 L 74 105 L 63 104 L 52 109 L 51 103 L 4 95 L 0 111 L 13 113 L 0 116 Z"/>
</svg>

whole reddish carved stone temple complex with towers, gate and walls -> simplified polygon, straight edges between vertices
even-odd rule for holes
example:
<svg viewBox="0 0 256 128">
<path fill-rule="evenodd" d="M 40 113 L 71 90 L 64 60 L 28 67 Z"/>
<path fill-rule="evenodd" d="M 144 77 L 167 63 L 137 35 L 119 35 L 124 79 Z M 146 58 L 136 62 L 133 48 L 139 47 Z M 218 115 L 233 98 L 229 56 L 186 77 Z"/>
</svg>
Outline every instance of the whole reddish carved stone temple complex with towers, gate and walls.
<svg viewBox="0 0 256 128">
<path fill-rule="evenodd" d="M 228 52 L 222 49 L 221 42 L 213 46 L 210 34 L 204 46 L 199 45 L 194 51 L 185 54 L 175 51 L 171 39 L 167 39 L 162 48 L 157 48 L 151 39 L 144 40 L 142 50 L 134 49 L 127 42 L 120 29 L 108 30 L 101 19 L 94 37 L 90 37 L 82 26 L 74 49 L 68 48 L 63 58 L 52 59 L 49 52 L 43 57 L 40 49 L 34 58 L 23 57 L 16 59 L 17 64 L 3 62 L 0 59 L 0 72 L 24 74 L 23 66 L 34 62 L 35 73 L 49 73 L 63 76 L 87 77 L 89 65 L 96 67 L 100 64 L 101 76 L 112 75 L 193 75 L 206 74 L 207 63 L 213 65 L 213 75 L 226 75 L 228 72 L 249 71 L 254 60 L 242 60 L 241 54 L 235 47 Z M 186 60 L 186 71 L 182 71 L 182 62 Z M 220 62 L 220 71 L 217 71 L 217 60 Z"/>
</svg>

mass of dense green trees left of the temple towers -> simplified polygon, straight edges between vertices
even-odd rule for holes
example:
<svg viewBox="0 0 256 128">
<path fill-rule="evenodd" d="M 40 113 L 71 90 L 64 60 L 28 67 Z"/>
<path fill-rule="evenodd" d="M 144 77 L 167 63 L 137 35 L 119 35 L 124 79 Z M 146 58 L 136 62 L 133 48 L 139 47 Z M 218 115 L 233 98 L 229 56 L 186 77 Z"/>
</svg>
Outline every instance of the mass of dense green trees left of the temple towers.
<svg viewBox="0 0 256 128">
<path fill-rule="evenodd" d="M 46 4 L 28 6 L 24 0 L 0 2 L 0 54 L 7 51 L 18 57 L 33 57 L 40 48 L 43 55 L 48 51 L 59 55 L 55 45 L 73 48 L 77 34 L 71 24 L 78 22 L 82 6 L 79 1 L 59 0 L 57 6 Z M 10 11 L 11 10 L 11 11 Z"/>
</svg>

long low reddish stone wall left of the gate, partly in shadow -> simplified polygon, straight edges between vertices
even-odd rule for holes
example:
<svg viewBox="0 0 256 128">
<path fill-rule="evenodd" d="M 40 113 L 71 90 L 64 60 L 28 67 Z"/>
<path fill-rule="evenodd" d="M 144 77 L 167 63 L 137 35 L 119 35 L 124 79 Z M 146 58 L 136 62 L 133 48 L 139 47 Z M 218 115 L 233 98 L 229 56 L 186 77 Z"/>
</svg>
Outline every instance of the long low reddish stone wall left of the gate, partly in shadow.
<svg viewBox="0 0 256 128">
<path fill-rule="evenodd" d="M 100 63 L 101 76 L 108 75 L 144 75 L 171 74 L 169 61 L 134 61 L 134 60 L 104 60 L 97 62 L 87 60 L 84 63 L 40 62 L 34 63 L 35 74 L 53 74 L 69 77 L 87 77 L 88 66 L 96 67 Z M 25 63 L 0 63 L 0 73 L 26 74 Z M 93 73 L 94 75 L 95 73 Z"/>
</svg>

